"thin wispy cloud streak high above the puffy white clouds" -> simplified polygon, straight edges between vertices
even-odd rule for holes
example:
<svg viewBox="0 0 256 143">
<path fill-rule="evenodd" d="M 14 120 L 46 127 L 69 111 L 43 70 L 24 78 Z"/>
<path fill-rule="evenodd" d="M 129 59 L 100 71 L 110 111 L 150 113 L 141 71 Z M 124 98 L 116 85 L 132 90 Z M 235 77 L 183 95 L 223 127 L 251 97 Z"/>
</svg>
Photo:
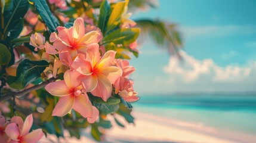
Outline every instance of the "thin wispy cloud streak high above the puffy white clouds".
<svg viewBox="0 0 256 143">
<path fill-rule="evenodd" d="M 223 36 L 235 36 L 235 35 L 249 35 L 256 33 L 256 26 L 237 26 L 237 25 L 225 25 L 225 26 L 194 26 L 194 27 L 181 27 L 180 30 L 187 38 L 198 38 L 201 36 L 210 37 L 223 37 Z"/>
</svg>

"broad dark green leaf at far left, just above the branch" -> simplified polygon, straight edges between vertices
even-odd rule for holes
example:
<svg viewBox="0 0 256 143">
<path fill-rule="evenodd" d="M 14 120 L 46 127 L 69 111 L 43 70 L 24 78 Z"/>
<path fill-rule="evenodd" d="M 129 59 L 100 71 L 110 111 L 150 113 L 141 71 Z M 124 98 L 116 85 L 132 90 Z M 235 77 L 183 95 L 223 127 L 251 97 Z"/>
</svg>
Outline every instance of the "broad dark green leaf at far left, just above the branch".
<svg viewBox="0 0 256 143">
<path fill-rule="evenodd" d="M 18 64 L 16 77 L 9 76 L 8 85 L 14 89 L 24 89 L 29 83 L 41 77 L 41 73 L 49 66 L 47 61 L 23 60 Z"/>
</svg>

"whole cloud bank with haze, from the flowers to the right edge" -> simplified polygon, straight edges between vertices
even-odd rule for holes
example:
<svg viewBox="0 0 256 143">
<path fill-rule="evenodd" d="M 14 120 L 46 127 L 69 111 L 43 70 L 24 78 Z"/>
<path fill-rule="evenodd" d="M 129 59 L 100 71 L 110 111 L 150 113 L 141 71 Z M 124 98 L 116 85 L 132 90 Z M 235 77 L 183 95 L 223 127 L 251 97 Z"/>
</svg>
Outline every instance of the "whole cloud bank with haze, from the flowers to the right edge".
<svg viewBox="0 0 256 143">
<path fill-rule="evenodd" d="M 183 62 L 169 58 L 164 74 L 155 78 L 135 75 L 135 89 L 141 94 L 171 92 L 256 91 L 256 61 L 244 66 L 218 66 L 212 59 L 197 60 L 181 51 Z"/>
</svg>

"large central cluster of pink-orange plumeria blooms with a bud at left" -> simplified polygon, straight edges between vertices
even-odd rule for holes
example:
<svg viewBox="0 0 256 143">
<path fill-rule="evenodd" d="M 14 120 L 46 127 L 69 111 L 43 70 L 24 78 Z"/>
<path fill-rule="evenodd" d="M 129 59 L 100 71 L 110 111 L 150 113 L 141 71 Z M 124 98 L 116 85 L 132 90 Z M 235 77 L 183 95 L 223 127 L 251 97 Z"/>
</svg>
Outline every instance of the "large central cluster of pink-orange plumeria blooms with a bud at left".
<svg viewBox="0 0 256 143">
<path fill-rule="evenodd" d="M 51 33 L 50 42 L 35 33 L 30 37 L 30 45 L 45 50 L 45 57 L 53 61 L 53 76 L 57 70 L 66 66 L 64 80 L 49 83 L 45 89 L 60 97 L 53 110 L 53 116 L 65 116 L 72 109 L 94 123 L 98 110 L 91 104 L 87 92 L 101 97 L 104 101 L 115 93 L 129 102 L 138 100 L 133 82 L 128 79 L 134 67 L 128 61 L 116 60 L 115 51 L 100 53 L 98 43 L 103 35 L 95 26 L 85 27 L 84 19 L 77 18 L 72 27 L 57 27 L 58 33 Z M 57 56 L 56 56 L 57 55 Z"/>
</svg>

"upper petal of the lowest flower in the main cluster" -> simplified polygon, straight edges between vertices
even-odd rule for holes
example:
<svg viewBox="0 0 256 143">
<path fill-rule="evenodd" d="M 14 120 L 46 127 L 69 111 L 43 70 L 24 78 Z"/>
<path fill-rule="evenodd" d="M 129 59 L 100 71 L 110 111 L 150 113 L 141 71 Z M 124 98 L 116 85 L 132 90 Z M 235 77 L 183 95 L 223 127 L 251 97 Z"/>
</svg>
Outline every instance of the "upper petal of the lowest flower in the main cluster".
<svg viewBox="0 0 256 143">
<path fill-rule="evenodd" d="M 81 82 L 78 80 L 78 76 L 80 75 L 81 74 L 78 73 L 78 71 L 67 70 L 64 73 L 64 81 L 70 90 L 74 90 L 76 87 L 81 85 Z"/>
</svg>

